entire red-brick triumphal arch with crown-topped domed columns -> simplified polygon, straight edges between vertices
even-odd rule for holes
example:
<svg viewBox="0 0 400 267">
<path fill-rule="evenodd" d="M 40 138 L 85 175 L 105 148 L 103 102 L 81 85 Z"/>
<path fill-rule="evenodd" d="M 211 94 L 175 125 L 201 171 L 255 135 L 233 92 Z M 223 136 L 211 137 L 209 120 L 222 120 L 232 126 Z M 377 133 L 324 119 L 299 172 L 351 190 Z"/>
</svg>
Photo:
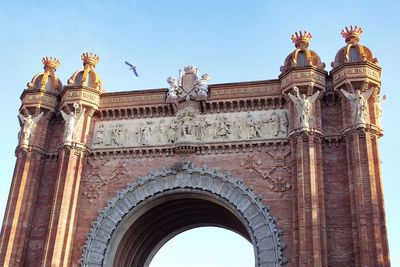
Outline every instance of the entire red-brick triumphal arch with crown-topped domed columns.
<svg viewBox="0 0 400 267">
<path fill-rule="evenodd" d="M 256 266 L 389 266 L 378 139 L 381 68 L 359 27 L 325 71 L 311 34 L 277 79 L 107 93 L 99 57 L 65 86 L 28 83 L 1 266 L 148 266 L 173 236 L 218 226 Z M 212 242 L 212 241 L 210 241 Z"/>
</svg>

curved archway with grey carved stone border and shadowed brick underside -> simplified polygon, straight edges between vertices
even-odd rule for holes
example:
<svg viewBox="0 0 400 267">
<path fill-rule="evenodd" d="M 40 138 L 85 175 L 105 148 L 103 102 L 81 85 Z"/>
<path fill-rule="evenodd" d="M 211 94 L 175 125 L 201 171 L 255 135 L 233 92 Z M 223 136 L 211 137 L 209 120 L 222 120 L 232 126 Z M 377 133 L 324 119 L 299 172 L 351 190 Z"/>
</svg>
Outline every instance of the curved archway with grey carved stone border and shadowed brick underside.
<svg viewBox="0 0 400 267">
<path fill-rule="evenodd" d="M 140 178 L 100 212 L 82 266 L 148 266 L 158 249 L 188 229 L 212 225 L 252 243 L 255 266 L 281 266 L 281 231 L 261 199 L 240 180 L 184 163 Z M 139 230 L 140 229 L 140 230 Z"/>
</svg>

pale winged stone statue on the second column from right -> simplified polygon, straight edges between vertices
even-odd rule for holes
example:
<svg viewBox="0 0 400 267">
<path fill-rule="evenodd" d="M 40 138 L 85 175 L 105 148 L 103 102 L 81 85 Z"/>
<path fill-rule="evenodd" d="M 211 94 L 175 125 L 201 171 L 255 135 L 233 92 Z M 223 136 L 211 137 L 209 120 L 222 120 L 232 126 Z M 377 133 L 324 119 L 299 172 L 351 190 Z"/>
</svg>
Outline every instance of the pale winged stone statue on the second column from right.
<svg viewBox="0 0 400 267">
<path fill-rule="evenodd" d="M 296 96 L 288 94 L 290 99 L 293 101 L 297 108 L 298 120 L 300 120 L 300 128 L 310 128 L 310 112 L 312 104 L 317 100 L 319 96 L 319 91 L 314 93 L 310 97 L 306 97 L 305 94 L 300 96 L 299 88 L 294 87 Z"/>
</svg>

